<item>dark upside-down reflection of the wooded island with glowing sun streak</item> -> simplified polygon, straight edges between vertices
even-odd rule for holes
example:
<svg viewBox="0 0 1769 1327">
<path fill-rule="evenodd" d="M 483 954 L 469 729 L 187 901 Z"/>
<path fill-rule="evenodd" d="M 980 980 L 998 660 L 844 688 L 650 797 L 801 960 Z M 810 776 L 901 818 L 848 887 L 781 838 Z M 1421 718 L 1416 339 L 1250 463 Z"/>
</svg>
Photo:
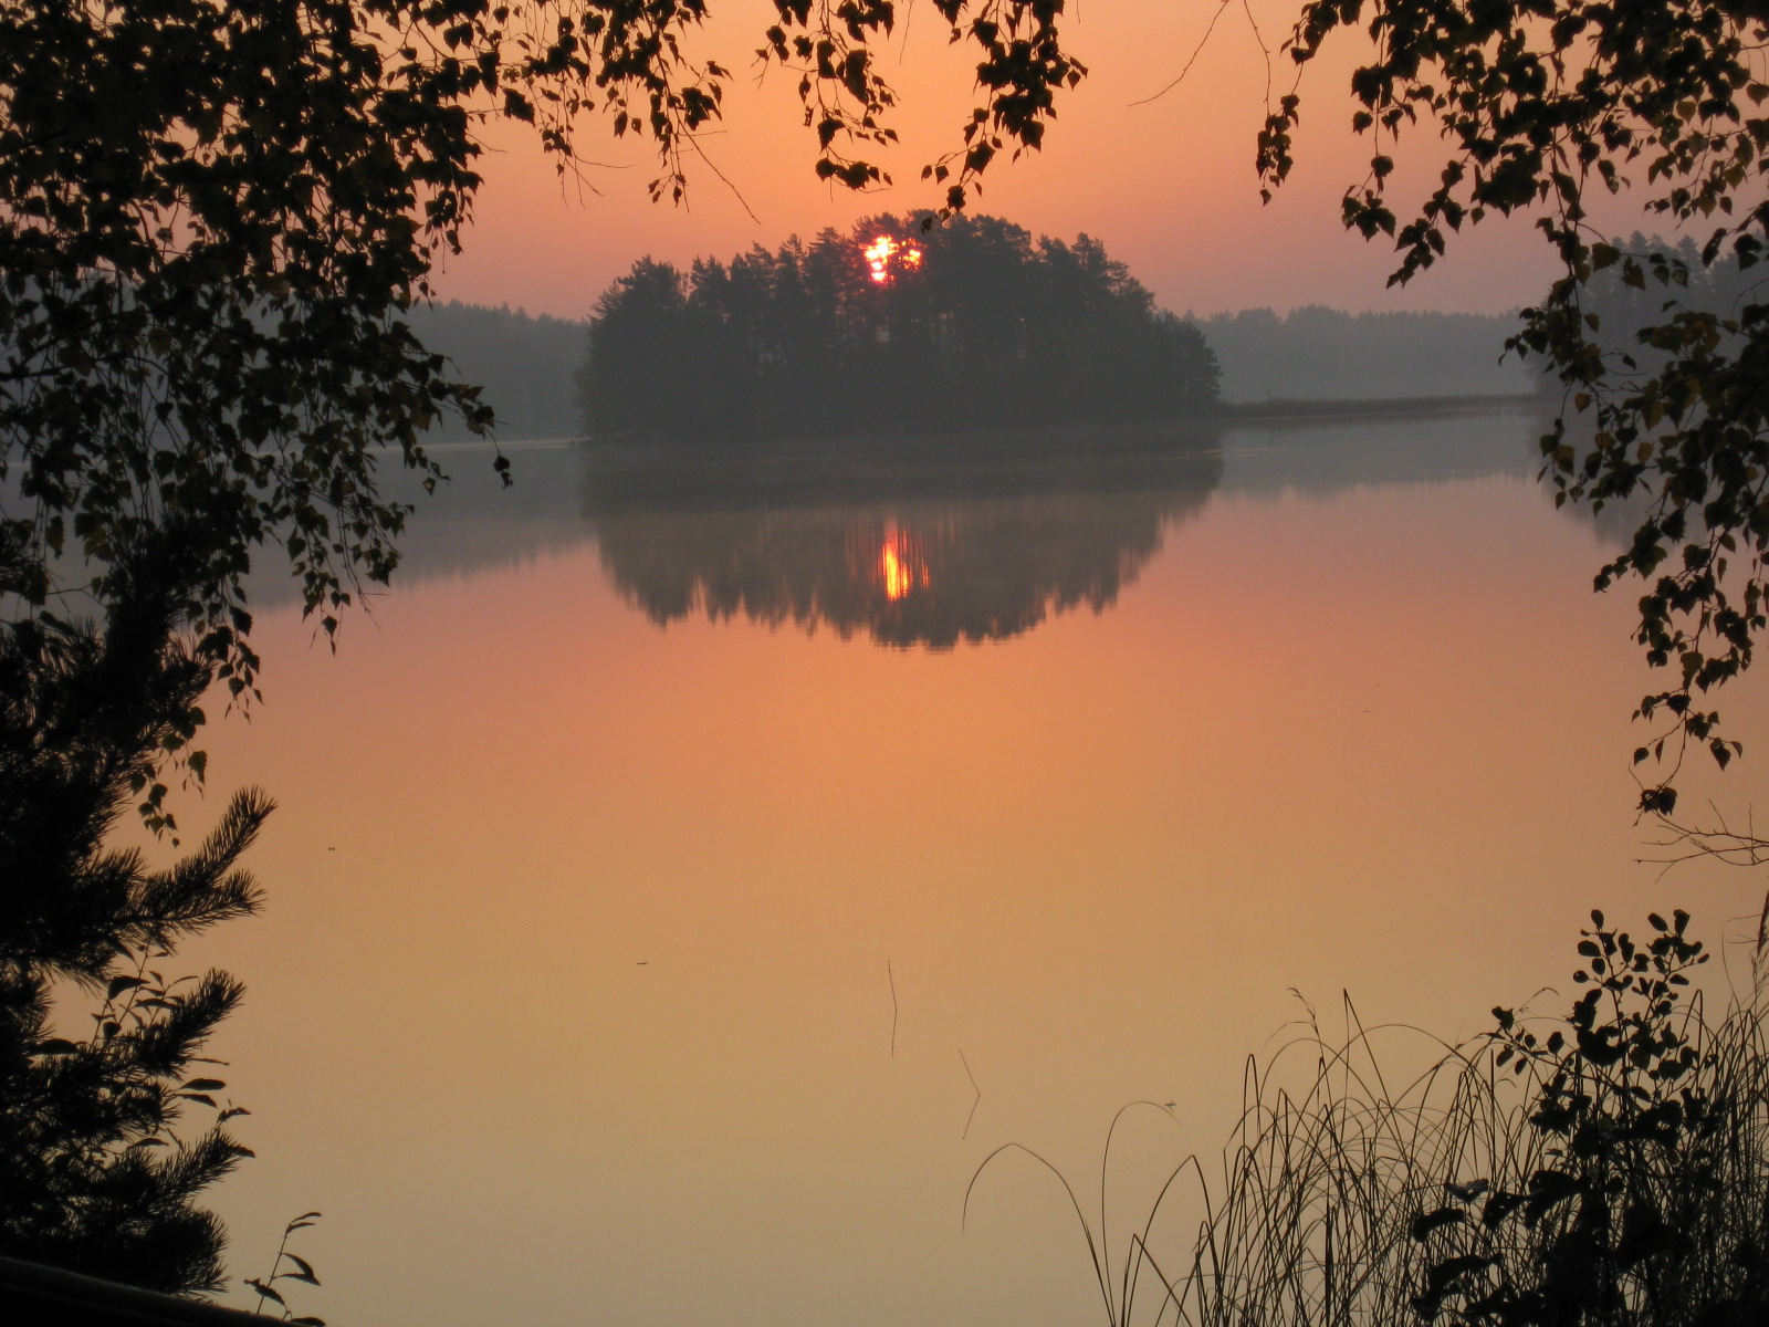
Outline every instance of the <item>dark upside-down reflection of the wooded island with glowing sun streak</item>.
<svg viewBox="0 0 1769 1327">
<path fill-rule="evenodd" d="M 658 625 L 741 616 L 950 649 L 1111 607 L 1166 527 L 1215 492 L 1222 460 L 1208 441 L 938 464 L 932 448 L 929 464 L 854 449 L 816 479 L 791 455 L 685 478 L 681 453 L 704 448 L 609 448 L 591 453 L 586 517 L 619 594 Z M 674 501 L 651 487 L 665 474 Z"/>
</svg>

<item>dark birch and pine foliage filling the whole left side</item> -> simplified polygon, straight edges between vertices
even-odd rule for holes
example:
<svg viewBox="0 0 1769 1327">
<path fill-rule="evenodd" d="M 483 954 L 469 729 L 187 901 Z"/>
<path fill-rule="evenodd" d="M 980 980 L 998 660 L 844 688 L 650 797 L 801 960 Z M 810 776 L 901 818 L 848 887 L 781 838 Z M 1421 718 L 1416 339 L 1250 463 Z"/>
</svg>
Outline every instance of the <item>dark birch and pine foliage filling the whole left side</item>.
<svg viewBox="0 0 1769 1327">
<path fill-rule="evenodd" d="M 938 0 L 953 23 L 969 0 Z M 1021 21 L 975 5 L 985 65 L 1024 64 Z M 1053 14 L 1060 0 L 1045 5 Z M 488 115 L 536 126 L 563 170 L 600 110 L 649 134 L 679 198 L 716 64 L 681 51 L 704 0 L 18 0 L 0 12 L 0 1247 L 165 1290 L 219 1276 L 193 1200 L 241 1148 L 186 1070 L 239 1000 L 211 973 L 161 980 L 184 934 L 251 911 L 237 871 L 269 802 L 246 793 L 170 871 L 108 851 L 133 796 L 202 722 L 212 679 L 255 694 L 242 579 L 287 557 L 338 628 L 384 582 L 410 511 L 380 492 L 389 449 L 433 487 L 421 437 L 494 423 L 409 313 L 456 249 Z M 828 99 L 821 173 L 883 140 L 888 88 L 865 39 L 886 2 L 782 0 L 770 58 Z M 1031 32 L 1049 28 L 1040 19 Z M 1045 69 L 1047 76 L 1079 76 Z M 985 83 L 985 87 L 989 87 Z M 1001 83 L 996 83 L 1001 87 Z M 984 101 L 1019 126 L 1042 110 Z M 499 456 L 497 467 L 508 471 Z M 48 605 L 67 568 L 103 632 Z M 202 757 L 189 770 L 202 775 Z M 53 1035 L 51 993 L 103 993 L 90 1039 Z"/>
</svg>

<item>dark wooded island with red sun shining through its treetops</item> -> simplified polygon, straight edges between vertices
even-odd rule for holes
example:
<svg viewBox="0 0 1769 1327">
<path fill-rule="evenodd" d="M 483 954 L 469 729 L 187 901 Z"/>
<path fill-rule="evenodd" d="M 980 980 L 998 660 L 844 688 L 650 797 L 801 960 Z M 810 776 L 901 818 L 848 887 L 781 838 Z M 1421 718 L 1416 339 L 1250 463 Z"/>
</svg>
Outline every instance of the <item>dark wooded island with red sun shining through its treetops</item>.
<svg viewBox="0 0 1769 1327">
<path fill-rule="evenodd" d="M 877 216 L 688 272 L 642 258 L 596 303 L 591 435 L 780 437 L 1206 414 L 1203 334 L 1104 246 L 992 216 Z"/>
</svg>

